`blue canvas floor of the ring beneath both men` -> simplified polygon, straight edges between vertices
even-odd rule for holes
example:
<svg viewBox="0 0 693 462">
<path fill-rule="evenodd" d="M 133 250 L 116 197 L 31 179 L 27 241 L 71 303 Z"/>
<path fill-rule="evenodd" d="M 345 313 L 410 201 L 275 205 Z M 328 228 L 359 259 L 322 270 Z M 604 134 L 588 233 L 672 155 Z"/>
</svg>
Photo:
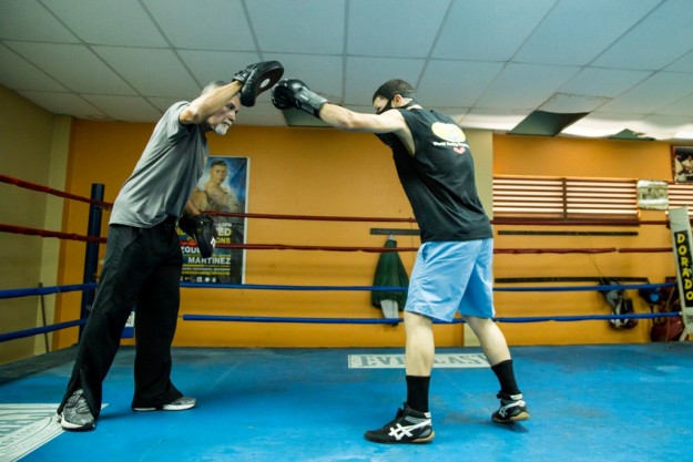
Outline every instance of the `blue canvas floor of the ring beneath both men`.
<svg viewBox="0 0 693 462">
<path fill-rule="evenodd" d="M 437 351 L 436 439 L 380 445 L 365 430 L 405 398 L 402 349 L 174 349 L 173 380 L 197 407 L 135 413 L 134 350 L 121 348 L 96 430 L 53 419 L 75 349 L 0 367 L 0 461 L 687 460 L 691 342 L 516 347 L 532 418 L 492 423 L 497 382 L 477 348 Z"/>
</svg>

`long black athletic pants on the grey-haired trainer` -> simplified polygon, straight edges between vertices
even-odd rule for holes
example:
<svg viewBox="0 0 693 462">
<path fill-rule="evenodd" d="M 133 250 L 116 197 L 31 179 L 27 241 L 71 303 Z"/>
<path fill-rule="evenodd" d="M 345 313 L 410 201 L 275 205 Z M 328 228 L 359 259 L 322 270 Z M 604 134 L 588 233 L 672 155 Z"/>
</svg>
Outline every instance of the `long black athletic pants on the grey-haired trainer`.
<svg viewBox="0 0 693 462">
<path fill-rule="evenodd" d="M 99 289 L 59 412 L 81 388 L 92 414 L 99 417 L 102 383 L 133 306 L 136 355 L 132 407 L 161 407 L 182 397 L 171 382 L 171 342 L 179 315 L 182 266 L 174 217 L 153 228 L 110 226 Z"/>
</svg>

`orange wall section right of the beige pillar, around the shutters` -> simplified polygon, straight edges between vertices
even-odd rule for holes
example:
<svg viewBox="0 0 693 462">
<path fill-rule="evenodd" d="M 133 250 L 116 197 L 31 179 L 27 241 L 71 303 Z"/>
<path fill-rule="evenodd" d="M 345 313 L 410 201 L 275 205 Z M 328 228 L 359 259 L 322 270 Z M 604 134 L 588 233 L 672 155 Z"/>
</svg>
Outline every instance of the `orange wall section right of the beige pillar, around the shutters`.
<svg viewBox="0 0 693 462">
<path fill-rule="evenodd" d="M 493 136 L 493 174 L 582 176 L 602 178 L 635 178 L 671 181 L 672 166 L 669 143 L 630 142 L 583 138 L 550 138 L 536 136 Z M 643 220 L 664 220 L 664 212 L 642 211 Z M 612 236 L 497 236 L 497 248 L 650 248 L 671 247 L 671 237 L 664 226 L 638 227 L 546 227 L 496 226 L 511 230 L 602 230 L 635 232 L 634 237 Z M 652 254 L 539 254 L 497 255 L 496 277 L 559 277 L 611 276 L 646 277 L 662 283 L 674 276 L 671 253 Z M 518 284 L 517 286 L 528 286 Z M 540 284 L 538 286 L 567 286 Z M 585 284 L 579 284 L 585 285 Z M 503 285 L 499 287 L 512 287 Z M 635 310 L 649 312 L 635 290 Z M 499 316 L 572 316 L 609 315 L 610 307 L 597 291 L 565 292 L 497 292 Z M 649 341 L 651 321 L 640 320 L 632 330 L 613 330 L 607 321 L 542 322 L 505 325 L 506 335 L 516 345 L 538 343 L 619 343 Z"/>
</svg>

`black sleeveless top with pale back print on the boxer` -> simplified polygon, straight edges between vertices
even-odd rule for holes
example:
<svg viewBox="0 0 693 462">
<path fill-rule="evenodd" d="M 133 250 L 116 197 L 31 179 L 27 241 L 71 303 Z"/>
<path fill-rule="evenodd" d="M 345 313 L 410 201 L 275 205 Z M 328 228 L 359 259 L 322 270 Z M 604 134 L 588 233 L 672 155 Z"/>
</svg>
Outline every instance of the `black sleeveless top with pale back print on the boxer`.
<svg viewBox="0 0 693 462">
<path fill-rule="evenodd" d="M 415 155 L 394 135 L 387 144 L 393 148 L 421 242 L 492 237 L 490 220 L 477 194 L 473 160 L 465 133 L 452 119 L 435 111 L 399 112 L 414 136 Z"/>
</svg>

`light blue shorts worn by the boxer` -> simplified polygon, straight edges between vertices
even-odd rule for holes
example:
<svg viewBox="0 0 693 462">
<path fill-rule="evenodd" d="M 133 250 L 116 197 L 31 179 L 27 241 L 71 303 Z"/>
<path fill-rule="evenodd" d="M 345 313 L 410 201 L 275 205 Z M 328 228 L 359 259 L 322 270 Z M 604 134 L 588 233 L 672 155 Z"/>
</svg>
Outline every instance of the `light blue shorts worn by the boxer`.
<svg viewBox="0 0 693 462">
<path fill-rule="evenodd" d="M 492 318 L 493 239 L 428 242 L 409 278 L 406 311 L 451 321 L 456 311 Z"/>
</svg>

